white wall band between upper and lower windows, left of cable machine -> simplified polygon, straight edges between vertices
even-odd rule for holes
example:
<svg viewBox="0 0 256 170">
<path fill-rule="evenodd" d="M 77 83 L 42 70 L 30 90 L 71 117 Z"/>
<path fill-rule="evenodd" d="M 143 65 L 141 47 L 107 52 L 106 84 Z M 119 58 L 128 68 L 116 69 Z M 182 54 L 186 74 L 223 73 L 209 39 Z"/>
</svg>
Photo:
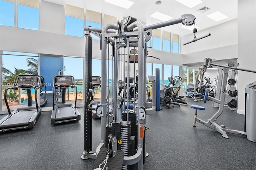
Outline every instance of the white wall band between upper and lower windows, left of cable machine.
<svg viewBox="0 0 256 170">
<path fill-rule="evenodd" d="M 84 57 L 84 38 L 0 25 L 0 50 Z"/>
</svg>

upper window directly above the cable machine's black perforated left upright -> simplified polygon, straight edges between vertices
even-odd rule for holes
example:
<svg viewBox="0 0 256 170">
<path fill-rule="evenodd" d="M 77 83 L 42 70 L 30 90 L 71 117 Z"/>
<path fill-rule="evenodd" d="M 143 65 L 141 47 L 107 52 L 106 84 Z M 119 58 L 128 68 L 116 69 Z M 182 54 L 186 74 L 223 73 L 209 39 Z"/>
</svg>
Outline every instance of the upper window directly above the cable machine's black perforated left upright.
<svg viewBox="0 0 256 170">
<path fill-rule="evenodd" d="M 91 10 L 86 10 L 86 21 L 85 21 L 86 27 L 94 27 L 94 28 L 101 28 L 101 13 L 94 12 Z M 92 39 L 94 40 L 100 40 L 97 36 L 94 34 L 91 34 Z"/>
</svg>

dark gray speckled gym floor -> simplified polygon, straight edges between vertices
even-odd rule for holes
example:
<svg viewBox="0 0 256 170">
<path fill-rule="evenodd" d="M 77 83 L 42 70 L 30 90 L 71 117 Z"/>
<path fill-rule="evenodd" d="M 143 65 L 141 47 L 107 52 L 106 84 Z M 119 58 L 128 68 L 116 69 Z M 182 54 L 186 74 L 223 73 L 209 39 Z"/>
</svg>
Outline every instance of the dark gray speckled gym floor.
<svg viewBox="0 0 256 170">
<path fill-rule="evenodd" d="M 146 121 L 144 170 L 256 170 L 256 143 L 246 136 L 228 134 L 223 138 L 216 130 L 200 123 L 193 127 L 195 109 L 198 118 L 207 121 L 218 108 L 188 99 L 188 106 L 163 108 Z M 91 170 L 94 160 L 82 160 L 84 151 L 84 109 L 78 109 L 81 121 L 50 125 L 51 112 L 42 112 L 36 126 L 0 134 L 1 170 Z M 217 122 L 244 130 L 244 115 L 227 107 Z M 100 143 L 100 119 L 92 120 L 92 150 Z"/>
</svg>

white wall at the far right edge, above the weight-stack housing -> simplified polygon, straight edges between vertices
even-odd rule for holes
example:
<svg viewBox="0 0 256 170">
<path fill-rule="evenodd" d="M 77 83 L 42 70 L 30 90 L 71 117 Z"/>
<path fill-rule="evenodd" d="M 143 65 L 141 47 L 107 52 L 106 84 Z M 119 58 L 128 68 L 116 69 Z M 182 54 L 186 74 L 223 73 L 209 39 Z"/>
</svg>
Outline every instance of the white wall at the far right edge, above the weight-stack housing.
<svg viewBox="0 0 256 170">
<path fill-rule="evenodd" d="M 249 15 L 250 14 L 250 15 Z M 256 71 L 256 1 L 238 0 L 238 63 Z M 256 73 L 238 71 L 238 110 L 244 114 L 245 86 L 256 81 Z"/>
</svg>

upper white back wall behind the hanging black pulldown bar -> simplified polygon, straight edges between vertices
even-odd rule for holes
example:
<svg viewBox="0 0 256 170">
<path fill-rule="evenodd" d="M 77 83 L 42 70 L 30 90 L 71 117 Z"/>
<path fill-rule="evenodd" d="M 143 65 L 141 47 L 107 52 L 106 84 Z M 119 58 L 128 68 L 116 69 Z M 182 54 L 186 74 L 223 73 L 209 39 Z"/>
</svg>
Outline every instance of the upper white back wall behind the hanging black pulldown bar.
<svg viewBox="0 0 256 170">
<path fill-rule="evenodd" d="M 209 33 L 211 36 L 187 45 L 182 44 L 193 40 L 194 34 L 181 37 L 180 49 L 183 54 L 183 64 L 189 66 L 198 63 L 198 67 L 200 67 L 200 63 L 203 63 L 205 58 L 227 60 L 238 57 L 237 19 L 205 30 L 198 28 L 196 37 L 199 38 Z"/>
</svg>

